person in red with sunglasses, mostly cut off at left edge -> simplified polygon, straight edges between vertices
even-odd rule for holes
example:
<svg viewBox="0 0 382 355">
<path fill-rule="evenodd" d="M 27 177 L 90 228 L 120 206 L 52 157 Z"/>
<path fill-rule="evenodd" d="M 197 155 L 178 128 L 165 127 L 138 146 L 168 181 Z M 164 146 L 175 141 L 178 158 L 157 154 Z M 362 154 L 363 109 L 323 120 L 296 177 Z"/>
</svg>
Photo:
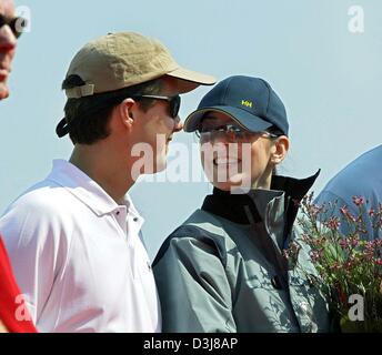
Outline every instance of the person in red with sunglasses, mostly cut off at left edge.
<svg viewBox="0 0 382 355">
<path fill-rule="evenodd" d="M 0 0 L 0 100 L 9 95 L 7 87 L 11 62 L 14 57 L 17 38 L 21 29 L 17 24 L 22 21 L 14 17 L 13 1 Z M 12 267 L 0 236 L 0 333 L 36 332 L 34 326 L 24 313 L 21 292 L 14 281 Z M 22 311 L 21 317 L 17 317 Z"/>
</svg>

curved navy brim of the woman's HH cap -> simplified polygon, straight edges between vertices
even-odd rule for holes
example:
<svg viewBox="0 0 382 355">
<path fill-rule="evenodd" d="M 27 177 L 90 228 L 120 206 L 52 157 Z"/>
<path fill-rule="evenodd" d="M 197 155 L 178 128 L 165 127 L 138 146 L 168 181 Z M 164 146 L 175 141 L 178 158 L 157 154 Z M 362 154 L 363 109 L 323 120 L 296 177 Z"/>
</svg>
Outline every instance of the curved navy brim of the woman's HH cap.
<svg viewBox="0 0 382 355">
<path fill-rule="evenodd" d="M 185 132 L 194 132 L 199 128 L 200 121 L 203 115 L 210 111 L 228 114 L 234 122 L 250 132 L 261 132 L 273 125 L 272 123 L 267 122 L 263 119 L 242 109 L 232 106 L 210 106 L 197 110 L 189 114 L 189 116 L 184 121 L 183 130 Z"/>
</svg>

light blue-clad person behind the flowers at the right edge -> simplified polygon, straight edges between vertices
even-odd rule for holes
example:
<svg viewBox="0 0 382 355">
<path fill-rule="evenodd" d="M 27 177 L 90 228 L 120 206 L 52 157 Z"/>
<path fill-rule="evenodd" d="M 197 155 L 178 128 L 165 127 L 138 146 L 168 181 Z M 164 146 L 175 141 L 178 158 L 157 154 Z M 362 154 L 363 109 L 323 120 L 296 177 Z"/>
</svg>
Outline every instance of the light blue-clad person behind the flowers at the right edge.
<svg viewBox="0 0 382 355">
<path fill-rule="evenodd" d="M 382 226 L 378 226 L 378 212 L 382 210 L 382 145 L 362 154 L 340 171 L 323 189 L 315 203 L 319 205 L 334 203 L 334 211 L 340 216 L 340 230 L 349 233 L 346 217 L 340 212 L 348 212 L 358 217 L 360 212 L 365 230 L 361 236 L 365 240 L 382 237 Z M 345 210 L 342 207 L 346 206 Z M 328 215 L 325 219 L 329 217 Z M 380 220 L 381 221 L 381 220 Z"/>
</svg>

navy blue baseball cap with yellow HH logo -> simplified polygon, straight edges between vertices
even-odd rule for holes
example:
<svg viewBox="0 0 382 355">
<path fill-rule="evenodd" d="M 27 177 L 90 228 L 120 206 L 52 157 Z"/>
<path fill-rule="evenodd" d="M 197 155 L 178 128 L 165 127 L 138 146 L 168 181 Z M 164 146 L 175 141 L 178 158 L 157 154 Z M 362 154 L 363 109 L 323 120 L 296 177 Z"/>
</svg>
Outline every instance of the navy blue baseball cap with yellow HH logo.
<svg viewBox="0 0 382 355">
<path fill-rule="evenodd" d="M 285 106 L 263 79 L 235 75 L 220 81 L 184 122 L 184 131 L 193 132 L 207 112 L 225 113 L 250 132 L 262 132 L 272 125 L 288 135 Z"/>
</svg>

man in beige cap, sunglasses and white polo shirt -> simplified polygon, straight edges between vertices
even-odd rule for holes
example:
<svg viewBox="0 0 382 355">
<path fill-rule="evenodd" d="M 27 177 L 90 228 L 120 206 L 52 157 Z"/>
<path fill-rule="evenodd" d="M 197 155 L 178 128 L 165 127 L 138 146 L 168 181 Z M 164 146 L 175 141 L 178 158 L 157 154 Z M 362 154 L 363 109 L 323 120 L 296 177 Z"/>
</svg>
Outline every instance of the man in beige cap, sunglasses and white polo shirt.
<svg viewBox="0 0 382 355">
<path fill-rule="evenodd" d="M 143 220 L 127 192 L 165 168 L 182 129 L 179 94 L 213 83 L 138 33 L 108 34 L 76 54 L 57 126 L 74 144 L 70 161 L 54 161 L 0 221 L 39 331 L 161 331 Z"/>
</svg>

